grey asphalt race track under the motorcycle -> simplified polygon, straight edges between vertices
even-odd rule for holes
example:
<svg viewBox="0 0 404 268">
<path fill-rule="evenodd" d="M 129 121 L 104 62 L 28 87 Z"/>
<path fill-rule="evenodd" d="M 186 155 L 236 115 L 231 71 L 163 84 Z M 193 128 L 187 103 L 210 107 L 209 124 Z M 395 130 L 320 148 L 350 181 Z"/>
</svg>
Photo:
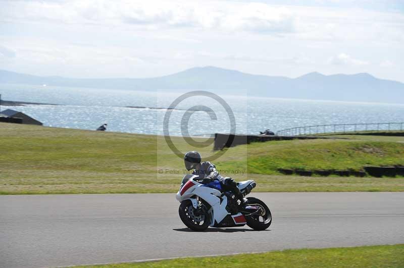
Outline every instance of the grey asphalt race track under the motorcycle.
<svg viewBox="0 0 404 268">
<path fill-rule="evenodd" d="M 251 193 L 267 231 L 190 232 L 174 194 L 0 196 L 0 267 L 404 243 L 404 192 Z"/>
</svg>

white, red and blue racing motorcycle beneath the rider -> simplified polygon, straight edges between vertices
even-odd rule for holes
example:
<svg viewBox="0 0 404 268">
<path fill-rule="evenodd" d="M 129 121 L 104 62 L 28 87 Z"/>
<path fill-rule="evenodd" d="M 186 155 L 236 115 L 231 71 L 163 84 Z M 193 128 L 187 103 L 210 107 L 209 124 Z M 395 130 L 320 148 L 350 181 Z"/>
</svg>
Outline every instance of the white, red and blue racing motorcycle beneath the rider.
<svg viewBox="0 0 404 268">
<path fill-rule="evenodd" d="M 178 209 L 181 221 L 193 231 L 205 231 L 210 227 L 240 227 L 245 224 L 262 231 L 272 223 L 271 211 L 258 198 L 247 197 L 242 206 L 234 193 L 223 191 L 219 181 L 199 183 L 197 175 L 185 174 L 176 194 L 181 203 Z M 237 187 L 245 196 L 257 185 L 254 180 L 240 181 Z"/>
</svg>

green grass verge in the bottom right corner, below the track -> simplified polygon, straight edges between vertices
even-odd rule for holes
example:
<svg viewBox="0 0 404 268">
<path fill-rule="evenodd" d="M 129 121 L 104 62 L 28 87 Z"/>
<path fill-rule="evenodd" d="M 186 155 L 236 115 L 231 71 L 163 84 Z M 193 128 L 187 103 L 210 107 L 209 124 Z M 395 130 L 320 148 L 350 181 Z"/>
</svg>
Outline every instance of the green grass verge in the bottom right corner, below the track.
<svg viewBox="0 0 404 268">
<path fill-rule="evenodd" d="M 403 267 L 404 245 L 297 249 L 258 254 L 178 258 L 141 263 L 88 265 L 97 268 L 163 267 Z"/>
</svg>

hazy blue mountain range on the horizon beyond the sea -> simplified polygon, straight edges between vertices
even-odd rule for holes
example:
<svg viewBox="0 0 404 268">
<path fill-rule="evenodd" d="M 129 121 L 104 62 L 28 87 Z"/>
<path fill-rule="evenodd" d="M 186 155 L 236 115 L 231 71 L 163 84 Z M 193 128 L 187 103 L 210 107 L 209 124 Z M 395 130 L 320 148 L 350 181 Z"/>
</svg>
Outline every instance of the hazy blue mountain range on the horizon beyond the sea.
<svg viewBox="0 0 404 268">
<path fill-rule="evenodd" d="M 367 73 L 322 75 L 314 72 L 287 78 L 206 66 L 155 78 L 76 79 L 0 70 L 0 83 L 165 92 L 208 90 L 216 94 L 258 97 L 404 103 L 403 83 L 378 79 Z"/>
</svg>

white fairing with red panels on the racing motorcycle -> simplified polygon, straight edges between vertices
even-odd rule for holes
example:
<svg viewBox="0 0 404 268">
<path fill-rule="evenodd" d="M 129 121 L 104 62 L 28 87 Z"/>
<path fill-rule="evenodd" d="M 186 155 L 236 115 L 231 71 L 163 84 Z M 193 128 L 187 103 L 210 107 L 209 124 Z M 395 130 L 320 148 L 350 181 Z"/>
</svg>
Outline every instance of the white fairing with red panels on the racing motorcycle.
<svg viewBox="0 0 404 268">
<path fill-rule="evenodd" d="M 195 177 L 197 177 L 197 175 L 186 177 L 189 178 L 189 180 L 182 185 L 176 194 L 176 198 L 180 203 L 186 199 L 191 200 L 192 206 L 195 209 L 197 207 L 197 200 L 194 196 L 196 195 L 204 199 L 211 206 L 211 209 L 208 211 L 211 215 L 211 222 L 209 225 L 211 227 L 217 226 L 224 218 L 226 218 L 226 216 L 230 215 L 226 210 L 227 196 L 222 195 L 222 192 L 215 188 L 207 187 L 204 184 L 194 181 L 193 178 Z M 230 216 L 233 219 L 235 226 L 246 224 L 246 220 L 241 213 Z"/>
</svg>

